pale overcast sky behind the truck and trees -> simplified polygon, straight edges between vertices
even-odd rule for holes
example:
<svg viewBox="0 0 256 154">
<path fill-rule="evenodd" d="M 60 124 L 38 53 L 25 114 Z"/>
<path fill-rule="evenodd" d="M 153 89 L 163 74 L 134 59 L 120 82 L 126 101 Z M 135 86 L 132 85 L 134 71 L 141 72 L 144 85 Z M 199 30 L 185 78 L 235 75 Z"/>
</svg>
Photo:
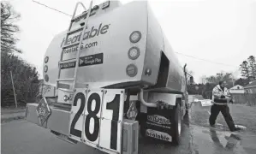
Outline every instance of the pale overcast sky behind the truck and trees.
<svg viewBox="0 0 256 154">
<path fill-rule="evenodd" d="M 24 51 L 21 56 L 42 74 L 45 50 L 57 33 L 68 28 L 70 17 L 32 0 L 9 2 L 21 14 L 18 22 L 21 41 L 17 44 Z M 38 2 L 72 15 L 78 1 Z M 88 0 L 81 2 L 89 3 Z M 96 0 L 101 2 L 104 0 Z M 129 2 L 131 0 L 122 0 L 122 3 Z M 248 56 L 256 56 L 256 0 L 152 0 L 150 3 L 170 44 L 180 53 L 176 54 L 179 61 L 182 65 L 188 63 L 196 81 L 199 82 L 202 75 L 222 70 L 239 75 L 241 62 Z"/>
</svg>

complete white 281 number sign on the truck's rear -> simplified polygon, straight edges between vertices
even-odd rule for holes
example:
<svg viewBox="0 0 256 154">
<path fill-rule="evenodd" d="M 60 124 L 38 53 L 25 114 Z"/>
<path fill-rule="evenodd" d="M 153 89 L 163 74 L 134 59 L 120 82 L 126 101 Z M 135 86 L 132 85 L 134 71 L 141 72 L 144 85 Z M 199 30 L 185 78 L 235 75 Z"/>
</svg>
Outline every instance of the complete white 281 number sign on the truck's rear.
<svg viewBox="0 0 256 154">
<path fill-rule="evenodd" d="M 76 89 L 70 114 L 72 139 L 109 153 L 122 151 L 124 90 Z"/>
</svg>

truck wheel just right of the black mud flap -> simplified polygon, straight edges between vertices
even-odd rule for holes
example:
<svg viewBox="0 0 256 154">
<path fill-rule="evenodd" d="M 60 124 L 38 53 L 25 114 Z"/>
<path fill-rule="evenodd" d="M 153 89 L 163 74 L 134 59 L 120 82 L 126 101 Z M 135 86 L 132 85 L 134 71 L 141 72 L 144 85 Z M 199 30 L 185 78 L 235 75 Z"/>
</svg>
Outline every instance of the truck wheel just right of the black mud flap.
<svg viewBox="0 0 256 154">
<path fill-rule="evenodd" d="M 180 104 L 176 105 L 171 117 L 171 137 L 174 145 L 179 145 L 182 133 L 182 111 Z"/>
</svg>

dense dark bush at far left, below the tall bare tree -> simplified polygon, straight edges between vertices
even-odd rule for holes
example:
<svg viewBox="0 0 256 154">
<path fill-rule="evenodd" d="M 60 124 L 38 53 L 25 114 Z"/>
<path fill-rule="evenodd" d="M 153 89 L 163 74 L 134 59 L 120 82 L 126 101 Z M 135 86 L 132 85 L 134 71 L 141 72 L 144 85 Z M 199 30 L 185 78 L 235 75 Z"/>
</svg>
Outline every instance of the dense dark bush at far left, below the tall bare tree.
<svg viewBox="0 0 256 154">
<path fill-rule="evenodd" d="M 36 68 L 14 54 L 1 52 L 1 58 L 1 105 L 8 106 L 14 103 L 10 71 L 13 73 L 18 104 L 33 102 L 39 92 L 39 74 Z"/>
</svg>

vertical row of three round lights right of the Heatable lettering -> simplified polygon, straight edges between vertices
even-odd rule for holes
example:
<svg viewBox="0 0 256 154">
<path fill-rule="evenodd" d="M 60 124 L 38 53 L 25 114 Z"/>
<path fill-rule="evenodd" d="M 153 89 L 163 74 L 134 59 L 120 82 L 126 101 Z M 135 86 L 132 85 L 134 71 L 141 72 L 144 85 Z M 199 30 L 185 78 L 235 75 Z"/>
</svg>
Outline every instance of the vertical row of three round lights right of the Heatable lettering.
<svg viewBox="0 0 256 154">
<path fill-rule="evenodd" d="M 131 43 L 135 44 L 138 43 L 141 39 L 141 33 L 139 31 L 134 31 L 130 34 L 129 40 Z M 140 49 L 136 46 L 131 47 L 128 50 L 128 57 L 131 60 L 136 60 L 140 56 Z M 129 64 L 126 68 L 126 73 L 130 77 L 136 76 L 138 73 L 138 68 L 134 64 Z"/>
</svg>

